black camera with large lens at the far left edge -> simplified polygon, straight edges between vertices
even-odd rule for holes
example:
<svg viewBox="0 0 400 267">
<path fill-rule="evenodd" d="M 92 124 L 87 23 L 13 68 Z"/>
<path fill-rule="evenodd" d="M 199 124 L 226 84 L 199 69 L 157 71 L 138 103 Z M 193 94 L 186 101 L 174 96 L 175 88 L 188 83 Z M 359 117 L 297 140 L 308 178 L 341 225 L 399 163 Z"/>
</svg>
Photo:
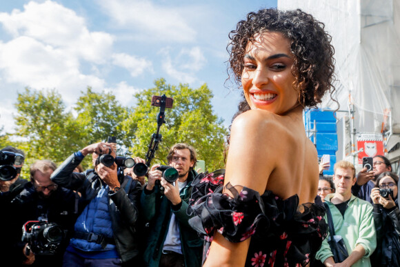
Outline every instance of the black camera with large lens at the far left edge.
<svg viewBox="0 0 400 267">
<path fill-rule="evenodd" d="M 17 174 L 21 172 L 21 168 L 15 168 L 15 166 L 22 166 L 23 155 L 10 152 L 0 151 L 0 180 L 9 181 L 17 177 Z"/>
</svg>

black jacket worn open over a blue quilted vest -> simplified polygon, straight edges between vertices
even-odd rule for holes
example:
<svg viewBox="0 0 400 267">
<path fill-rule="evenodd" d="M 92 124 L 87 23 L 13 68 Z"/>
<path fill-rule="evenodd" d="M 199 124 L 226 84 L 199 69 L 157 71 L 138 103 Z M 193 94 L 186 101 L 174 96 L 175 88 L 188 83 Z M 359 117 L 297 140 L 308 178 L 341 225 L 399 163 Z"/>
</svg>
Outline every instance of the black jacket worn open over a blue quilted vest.
<svg viewBox="0 0 400 267">
<path fill-rule="evenodd" d="M 83 206 L 86 206 L 96 197 L 102 181 L 92 170 L 73 172 L 80 163 L 81 159 L 72 154 L 52 173 L 51 179 L 60 186 L 79 191 Z M 138 239 L 135 229 L 139 215 L 137 207 L 141 186 L 129 176 L 119 175 L 119 182 L 121 189 L 115 193 L 109 193 L 108 207 L 115 245 L 121 260 L 126 262 L 139 255 L 139 245 L 142 242 Z M 129 192 L 126 192 L 123 188 L 128 182 L 130 182 L 130 188 Z"/>
</svg>

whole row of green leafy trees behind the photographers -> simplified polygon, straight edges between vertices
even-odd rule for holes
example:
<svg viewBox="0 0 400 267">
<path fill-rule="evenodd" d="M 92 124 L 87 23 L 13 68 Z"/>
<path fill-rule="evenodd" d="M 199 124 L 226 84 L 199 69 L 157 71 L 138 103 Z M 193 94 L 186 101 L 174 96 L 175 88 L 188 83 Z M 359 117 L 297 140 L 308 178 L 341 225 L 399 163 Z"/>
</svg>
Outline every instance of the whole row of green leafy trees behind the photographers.
<svg viewBox="0 0 400 267">
<path fill-rule="evenodd" d="M 66 110 L 56 90 L 30 90 L 18 94 L 16 132 L 10 140 L 0 128 L 0 145 L 14 146 L 26 152 L 26 167 L 37 159 L 50 159 L 61 164 L 72 152 L 89 144 L 117 137 L 121 145 L 119 154 L 132 152 L 145 157 L 150 138 L 157 131 L 158 107 L 151 106 L 153 95 L 166 95 L 174 99 L 173 108 L 166 108 L 166 123 L 160 128 L 162 141 L 154 163 L 166 163 L 166 155 L 176 143 L 188 143 L 198 152 L 198 159 L 206 161 L 206 168 L 223 167 L 223 140 L 226 129 L 222 120 L 212 112 L 212 92 L 204 84 L 190 88 L 187 84 L 172 86 L 164 79 L 154 82 L 155 87 L 134 95 L 137 105 L 121 106 L 111 92 L 97 93 L 88 87 L 77 99 L 76 112 Z M 91 167 L 91 159 L 83 161 Z"/>
</svg>

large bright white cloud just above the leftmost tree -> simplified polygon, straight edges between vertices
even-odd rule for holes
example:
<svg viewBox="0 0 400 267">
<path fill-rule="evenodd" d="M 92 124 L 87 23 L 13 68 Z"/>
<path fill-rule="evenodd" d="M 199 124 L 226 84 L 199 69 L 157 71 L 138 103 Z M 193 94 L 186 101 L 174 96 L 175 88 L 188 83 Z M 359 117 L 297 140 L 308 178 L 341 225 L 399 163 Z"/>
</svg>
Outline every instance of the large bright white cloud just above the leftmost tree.
<svg viewBox="0 0 400 267">
<path fill-rule="evenodd" d="M 30 37 L 0 43 L 0 69 L 7 83 L 31 88 L 56 88 L 72 103 L 86 86 L 102 88 L 103 79 L 79 72 L 79 61 L 65 50 L 54 49 Z"/>
</svg>

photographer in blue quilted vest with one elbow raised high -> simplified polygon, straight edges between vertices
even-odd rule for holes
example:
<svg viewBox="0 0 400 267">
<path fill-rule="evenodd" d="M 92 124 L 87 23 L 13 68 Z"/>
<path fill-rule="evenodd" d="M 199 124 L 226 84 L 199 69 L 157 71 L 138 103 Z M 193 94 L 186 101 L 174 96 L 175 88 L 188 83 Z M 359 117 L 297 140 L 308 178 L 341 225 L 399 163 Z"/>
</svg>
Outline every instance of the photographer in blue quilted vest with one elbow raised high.
<svg viewBox="0 0 400 267">
<path fill-rule="evenodd" d="M 92 154 L 94 170 L 73 172 L 88 154 Z M 141 186 L 132 177 L 119 172 L 117 164 L 107 167 L 102 161 L 106 155 L 116 157 L 111 144 L 91 144 L 68 157 L 51 177 L 56 184 L 77 190 L 84 206 L 74 226 L 63 266 L 139 263 L 140 240 L 135 226 Z"/>
</svg>

